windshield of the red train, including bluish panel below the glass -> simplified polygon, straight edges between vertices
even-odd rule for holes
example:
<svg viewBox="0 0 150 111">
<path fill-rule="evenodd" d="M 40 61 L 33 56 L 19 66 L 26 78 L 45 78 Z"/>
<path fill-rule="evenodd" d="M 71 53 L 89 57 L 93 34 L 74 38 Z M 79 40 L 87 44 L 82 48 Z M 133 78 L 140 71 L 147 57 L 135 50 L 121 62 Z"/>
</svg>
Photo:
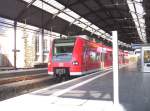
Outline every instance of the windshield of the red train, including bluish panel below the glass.
<svg viewBox="0 0 150 111">
<path fill-rule="evenodd" d="M 54 41 L 53 61 L 70 61 L 75 39 L 57 39 Z"/>
</svg>

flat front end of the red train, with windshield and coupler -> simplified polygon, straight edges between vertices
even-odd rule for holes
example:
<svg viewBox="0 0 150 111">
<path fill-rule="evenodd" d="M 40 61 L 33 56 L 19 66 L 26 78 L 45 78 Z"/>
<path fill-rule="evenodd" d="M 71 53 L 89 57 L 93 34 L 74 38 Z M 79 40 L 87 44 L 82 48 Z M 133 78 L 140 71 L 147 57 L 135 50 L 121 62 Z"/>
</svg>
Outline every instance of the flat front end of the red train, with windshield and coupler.
<svg viewBox="0 0 150 111">
<path fill-rule="evenodd" d="M 80 70 L 79 61 L 74 56 L 76 38 L 55 39 L 49 54 L 48 74 L 54 77 L 70 76 Z M 73 68 L 76 67 L 76 68 Z"/>
</svg>

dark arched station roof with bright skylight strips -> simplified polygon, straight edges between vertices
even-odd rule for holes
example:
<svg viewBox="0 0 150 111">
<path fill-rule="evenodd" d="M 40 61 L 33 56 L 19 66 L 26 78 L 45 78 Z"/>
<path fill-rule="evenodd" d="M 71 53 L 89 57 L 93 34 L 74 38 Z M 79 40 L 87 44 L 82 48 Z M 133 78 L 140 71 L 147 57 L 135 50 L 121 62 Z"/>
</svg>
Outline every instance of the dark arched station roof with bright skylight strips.
<svg viewBox="0 0 150 111">
<path fill-rule="evenodd" d="M 84 34 L 110 41 L 111 31 L 117 30 L 120 44 L 128 46 L 149 42 L 142 9 L 147 2 L 144 0 L 143 5 L 142 0 L 1 0 L 0 16 L 64 35 Z"/>
</svg>

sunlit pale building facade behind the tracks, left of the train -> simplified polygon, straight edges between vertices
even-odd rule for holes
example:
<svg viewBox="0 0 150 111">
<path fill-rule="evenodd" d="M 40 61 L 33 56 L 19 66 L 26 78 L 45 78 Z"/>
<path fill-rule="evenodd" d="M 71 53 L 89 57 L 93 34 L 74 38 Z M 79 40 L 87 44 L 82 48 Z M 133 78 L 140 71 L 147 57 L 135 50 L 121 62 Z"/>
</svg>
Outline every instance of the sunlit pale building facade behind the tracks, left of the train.
<svg viewBox="0 0 150 111">
<path fill-rule="evenodd" d="M 0 18 L 0 67 L 14 66 L 14 22 Z M 17 23 L 16 31 L 16 67 L 33 67 L 35 64 L 47 63 L 51 41 L 60 34 L 23 23 Z"/>
</svg>

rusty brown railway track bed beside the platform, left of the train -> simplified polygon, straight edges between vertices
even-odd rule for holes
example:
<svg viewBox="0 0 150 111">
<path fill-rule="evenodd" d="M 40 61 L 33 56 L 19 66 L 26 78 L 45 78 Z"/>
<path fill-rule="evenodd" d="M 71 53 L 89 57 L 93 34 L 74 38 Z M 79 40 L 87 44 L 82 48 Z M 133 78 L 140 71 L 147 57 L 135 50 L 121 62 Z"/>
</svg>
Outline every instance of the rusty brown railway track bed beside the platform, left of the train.
<svg viewBox="0 0 150 111">
<path fill-rule="evenodd" d="M 25 94 L 58 81 L 46 73 L 0 78 L 0 101 Z"/>
</svg>

